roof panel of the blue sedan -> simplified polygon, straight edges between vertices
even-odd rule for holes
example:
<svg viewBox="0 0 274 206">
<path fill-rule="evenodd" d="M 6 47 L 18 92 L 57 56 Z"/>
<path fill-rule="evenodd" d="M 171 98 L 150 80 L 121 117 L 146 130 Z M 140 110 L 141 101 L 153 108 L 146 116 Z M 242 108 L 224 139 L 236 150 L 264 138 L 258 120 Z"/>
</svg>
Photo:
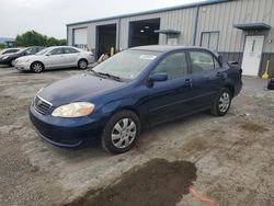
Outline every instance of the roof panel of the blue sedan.
<svg viewBox="0 0 274 206">
<path fill-rule="evenodd" d="M 178 49 L 199 49 L 213 53 L 216 57 L 219 57 L 218 53 L 210 50 L 208 48 L 197 47 L 197 46 L 182 46 L 182 45 L 149 45 L 149 46 L 138 46 L 133 47 L 130 50 L 150 50 L 159 53 L 168 53 Z"/>
</svg>

